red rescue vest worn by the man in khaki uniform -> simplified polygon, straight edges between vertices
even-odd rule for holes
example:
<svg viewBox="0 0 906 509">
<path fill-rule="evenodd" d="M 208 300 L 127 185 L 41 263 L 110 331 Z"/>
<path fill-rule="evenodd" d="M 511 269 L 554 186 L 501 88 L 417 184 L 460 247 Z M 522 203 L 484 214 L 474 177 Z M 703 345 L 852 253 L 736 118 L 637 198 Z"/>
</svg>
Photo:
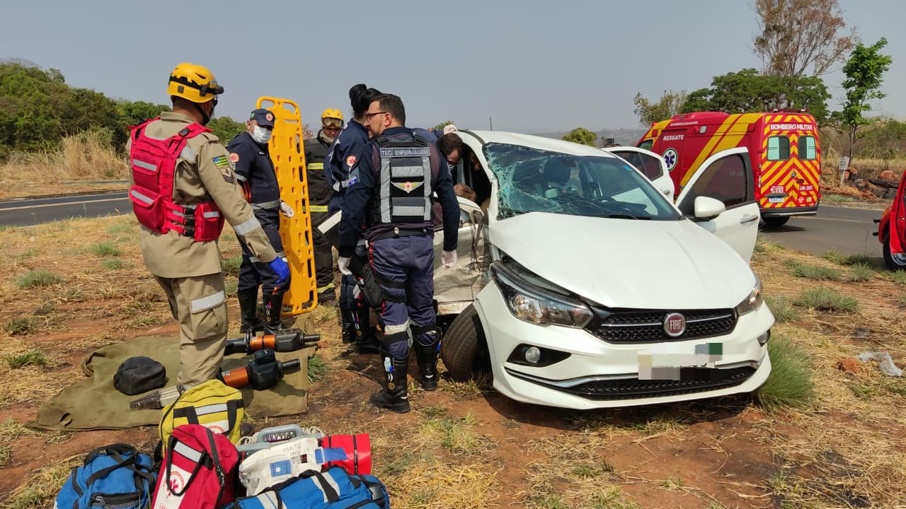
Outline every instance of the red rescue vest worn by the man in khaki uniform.
<svg viewBox="0 0 906 509">
<path fill-rule="evenodd" d="M 179 155 L 186 149 L 189 139 L 211 130 L 192 123 L 168 139 L 153 139 L 145 135 L 145 128 L 154 120 L 132 129 L 129 154 L 135 182 L 129 189 L 132 211 L 141 226 L 151 231 L 166 234 L 174 230 L 199 242 L 217 240 L 224 218 L 216 204 L 183 206 L 173 203 L 173 178 Z M 226 157 L 222 164 L 229 164 Z"/>
</svg>

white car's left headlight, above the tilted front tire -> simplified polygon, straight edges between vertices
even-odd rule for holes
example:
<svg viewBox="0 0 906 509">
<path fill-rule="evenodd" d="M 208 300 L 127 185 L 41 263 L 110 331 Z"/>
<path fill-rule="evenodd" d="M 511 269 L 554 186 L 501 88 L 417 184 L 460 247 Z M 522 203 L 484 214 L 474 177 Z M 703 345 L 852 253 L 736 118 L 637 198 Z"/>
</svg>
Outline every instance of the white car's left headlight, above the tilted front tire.
<svg viewBox="0 0 906 509">
<path fill-rule="evenodd" d="M 490 273 L 504 294 L 506 307 L 519 320 L 576 328 L 582 328 L 592 320 L 592 310 L 585 304 L 528 283 L 500 262 L 491 264 Z"/>
</svg>

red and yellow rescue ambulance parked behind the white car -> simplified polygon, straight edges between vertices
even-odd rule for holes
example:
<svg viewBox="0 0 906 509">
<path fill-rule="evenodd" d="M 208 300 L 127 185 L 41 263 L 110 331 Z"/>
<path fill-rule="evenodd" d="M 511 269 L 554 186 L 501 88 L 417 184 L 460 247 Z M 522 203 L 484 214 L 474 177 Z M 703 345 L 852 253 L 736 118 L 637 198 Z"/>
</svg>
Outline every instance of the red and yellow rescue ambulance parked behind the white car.
<svg viewBox="0 0 906 509">
<path fill-rule="evenodd" d="M 746 147 L 755 199 L 767 226 L 817 213 L 821 148 L 814 117 L 804 110 L 683 113 L 654 123 L 636 146 L 664 158 L 677 194 L 712 154 Z"/>
</svg>

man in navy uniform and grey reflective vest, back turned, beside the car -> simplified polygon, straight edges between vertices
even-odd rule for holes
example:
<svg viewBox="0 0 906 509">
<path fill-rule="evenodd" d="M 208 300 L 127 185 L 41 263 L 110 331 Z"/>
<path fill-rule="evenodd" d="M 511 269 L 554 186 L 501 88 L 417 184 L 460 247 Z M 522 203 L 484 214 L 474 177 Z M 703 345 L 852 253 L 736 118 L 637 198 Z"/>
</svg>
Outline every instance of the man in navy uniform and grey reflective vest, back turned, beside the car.
<svg viewBox="0 0 906 509">
<path fill-rule="evenodd" d="M 425 390 L 438 387 L 440 329 L 434 312 L 434 227 L 431 195 L 443 210 L 441 263 L 456 264 L 459 207 L 447 161 L 437 147 L 404 127 L 400 98 L 383 94 L 371 102 L 365 126 L 373 141 L 352 168 L 340 222 L 337 265 L 350 271 L 351 256 L 364 231 L 371 269 L 384 303 L 385 389 L 371 402 L 395 412 L 410 410 L 407 389 L 410 329 Z"/>
</svg>

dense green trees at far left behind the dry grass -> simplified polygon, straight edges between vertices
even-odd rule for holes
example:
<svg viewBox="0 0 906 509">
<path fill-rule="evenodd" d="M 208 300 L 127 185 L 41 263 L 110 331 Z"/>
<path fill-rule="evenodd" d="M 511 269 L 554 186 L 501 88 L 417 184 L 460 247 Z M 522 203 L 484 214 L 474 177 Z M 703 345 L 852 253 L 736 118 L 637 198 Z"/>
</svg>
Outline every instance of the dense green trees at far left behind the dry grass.
<svg viewBox="0 0 906 509">
<path fill-rule="evenodd" d="M 111 147 L 125 149 L 129 126 L 169 111 L 165 104 L 111 99 L 68 85 L 63 73 L 32 62 L 0 61 L 0 160 L 13 152 L 56 149 L 63 138 L 98 130 Z M 215 117 L 207 124 L 226 142 L 246 130 L 244 122 Z"/>
</svg>

